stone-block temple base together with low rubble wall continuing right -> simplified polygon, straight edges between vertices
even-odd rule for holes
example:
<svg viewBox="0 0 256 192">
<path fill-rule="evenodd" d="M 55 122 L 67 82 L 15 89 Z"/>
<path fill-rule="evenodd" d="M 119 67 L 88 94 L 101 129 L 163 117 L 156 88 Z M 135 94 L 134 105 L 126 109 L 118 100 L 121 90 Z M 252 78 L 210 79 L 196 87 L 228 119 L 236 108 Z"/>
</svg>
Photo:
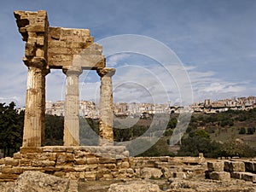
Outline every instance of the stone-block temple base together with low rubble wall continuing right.
<svg viewBox="0 0 256 192">
<path fill-rule="evenodd" d="M 122 146 L 20 148 L 13 158 L 0 159 L 0 183 L 15 181 L 26 171 L 86 181 L 185 178 L 203 176 L 207 169 L 203 161 L 191 157 L 129 157 L 129 152 Z"/>
</svg>

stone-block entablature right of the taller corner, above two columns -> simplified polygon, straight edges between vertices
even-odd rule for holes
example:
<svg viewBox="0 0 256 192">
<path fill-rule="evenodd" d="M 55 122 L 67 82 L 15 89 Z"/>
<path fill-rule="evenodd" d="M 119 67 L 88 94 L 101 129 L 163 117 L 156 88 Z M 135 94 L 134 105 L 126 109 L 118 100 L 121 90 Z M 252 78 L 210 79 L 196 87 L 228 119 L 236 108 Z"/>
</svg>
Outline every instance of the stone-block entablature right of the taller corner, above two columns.
<svg viewBox="0 0 256 192">
<path fill-rule="evenodd" d="M 88 29 L 49 27 L 48 39 L 49 67 L 105 67 L 102 46 L 94 44 Z"/>
</svg>

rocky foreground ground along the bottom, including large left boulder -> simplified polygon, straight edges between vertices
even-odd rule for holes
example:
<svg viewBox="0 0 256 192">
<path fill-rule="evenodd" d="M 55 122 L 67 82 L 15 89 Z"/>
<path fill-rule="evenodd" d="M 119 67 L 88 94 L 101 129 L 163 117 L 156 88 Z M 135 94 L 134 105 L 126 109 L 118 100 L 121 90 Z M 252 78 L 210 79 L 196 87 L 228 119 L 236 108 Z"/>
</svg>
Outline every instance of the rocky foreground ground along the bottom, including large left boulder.
<svg viewBox="0 0 256 192">
<path fill-rule="evenodd" d="M 69 180 L 42 172 L 24 172 L 12 183 L 0 183 L 1 192 L 256 192 L 256 183 L 233 179 L 218 181 L 203 175 L 169 179 Z"/>
</svg>

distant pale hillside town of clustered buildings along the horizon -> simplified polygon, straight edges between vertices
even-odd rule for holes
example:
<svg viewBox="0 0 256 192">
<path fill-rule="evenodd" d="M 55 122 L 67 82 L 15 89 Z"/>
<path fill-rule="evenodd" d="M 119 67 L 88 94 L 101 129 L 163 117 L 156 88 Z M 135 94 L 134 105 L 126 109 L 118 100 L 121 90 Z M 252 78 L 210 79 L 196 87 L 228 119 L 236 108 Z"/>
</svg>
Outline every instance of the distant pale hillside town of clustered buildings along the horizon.
<svg viewBox="0 0 256 192">
<path fill-rule="evenodd" d="M 189 106 L 193 113 L 220 113 L 228 110 L 249 110 L 256 107 L 256 96 L 233 97 L 211 101 L 206 99 L 204 102 L 195 102 Z M 172 105 L 172 102 L 166 103 L 136 103 L 136 102 L 116 102 L 113 103 L 113 112 L 116 116 L 137 116 L 143 113 L 180 113 L 183 107 Z M 64 116 L 64 102 L 46 102 L 46 114 Z M 97 119 L 98 106 L 95 102 L 80 101 L 79 115 L 84 118 Z"/>
</svg>

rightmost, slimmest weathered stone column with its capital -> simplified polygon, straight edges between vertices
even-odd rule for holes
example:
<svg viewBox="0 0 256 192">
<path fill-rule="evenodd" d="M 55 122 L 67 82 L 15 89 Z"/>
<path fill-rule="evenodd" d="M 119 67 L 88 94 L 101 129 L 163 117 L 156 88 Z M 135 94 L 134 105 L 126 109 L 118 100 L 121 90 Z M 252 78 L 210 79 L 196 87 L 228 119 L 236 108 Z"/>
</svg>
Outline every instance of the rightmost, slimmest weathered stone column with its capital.
<svg viewBox="0 0 256 192">
<path fill-rule="evenodd" d="M 100 98 L 100 122 L 99 145 L 113 145 L 113 87 L 111 77 L 115 73 L 114 68 L 98 68 L 97 73 L 101 77 Z"/>
</svg>

